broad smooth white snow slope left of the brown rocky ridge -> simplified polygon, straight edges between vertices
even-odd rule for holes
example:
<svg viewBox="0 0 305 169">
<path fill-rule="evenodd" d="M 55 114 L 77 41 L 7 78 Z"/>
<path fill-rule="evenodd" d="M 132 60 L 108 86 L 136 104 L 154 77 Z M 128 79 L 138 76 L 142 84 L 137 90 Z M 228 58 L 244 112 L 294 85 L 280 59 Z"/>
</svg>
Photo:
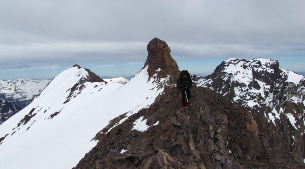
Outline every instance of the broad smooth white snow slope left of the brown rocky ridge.
<svg viewBox="0 0 305 169">
<path fill-rule="evenodd" d="M 168 79 L 149 80 L 147 69 L 125 85 L 85 82 L 77 90 L 72 89 L 88 72 L 73 67 L 60 73 L 0 126 L 0 137 L 7 135 L 0 143 L 1 169 L 74 167 L 97 144 L 92 139 L 109 120 L 148 107 L 163 92 L 157 86 Z"/>
</svg>

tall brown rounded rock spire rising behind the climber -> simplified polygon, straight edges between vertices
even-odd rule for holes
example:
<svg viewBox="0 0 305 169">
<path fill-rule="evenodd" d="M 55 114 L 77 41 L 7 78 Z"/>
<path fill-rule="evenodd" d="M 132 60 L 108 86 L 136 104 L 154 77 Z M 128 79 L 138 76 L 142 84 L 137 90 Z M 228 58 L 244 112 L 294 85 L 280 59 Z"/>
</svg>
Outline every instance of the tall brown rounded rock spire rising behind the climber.
<svg viewBox="0 0 305 169">
<path fill-rule="evenodd" d="M 158 38 L 152 39 L 147 45 L 148 56 L 144 64 L 144 69 L 148 66 L 148 75 L 151 78 L 160 68 L 157 77 L 165 78 L 170 75 L 169 80 L 175 83 L 179 76 L 179 68 L 176 61 L 170 56 L 170 47 L 167 43 Z"/>
</svg>

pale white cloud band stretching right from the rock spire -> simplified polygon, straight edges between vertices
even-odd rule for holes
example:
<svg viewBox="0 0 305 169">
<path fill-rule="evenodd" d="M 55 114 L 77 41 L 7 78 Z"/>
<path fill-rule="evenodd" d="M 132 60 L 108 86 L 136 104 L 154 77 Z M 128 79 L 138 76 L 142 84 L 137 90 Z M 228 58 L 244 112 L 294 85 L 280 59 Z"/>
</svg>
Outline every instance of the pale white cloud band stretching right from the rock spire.
<svg viewBox="0 0 305 169">
<path fill-rule="evenodd" d="M 173 56 L 203 58 L 268 57 L 274 55 L 305 55 L 305 51 L 295 50 L 296 46 L 284 45 L 242 45 L 242 44 L 171 44 Z"/>
</svg>

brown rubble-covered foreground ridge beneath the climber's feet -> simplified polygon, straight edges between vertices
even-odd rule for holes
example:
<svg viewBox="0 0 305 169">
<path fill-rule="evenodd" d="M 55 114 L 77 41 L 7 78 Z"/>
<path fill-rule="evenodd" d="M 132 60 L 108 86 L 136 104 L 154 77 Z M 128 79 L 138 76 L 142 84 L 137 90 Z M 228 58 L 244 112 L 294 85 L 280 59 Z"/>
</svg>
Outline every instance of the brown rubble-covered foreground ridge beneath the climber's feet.
<svg viewBox="0 0 305 169">
<path fill-rule="evenodd" d="M 246 108 L 193 87 L 191 105 L 179 109 L 180 93 L 173 88 L 167 86 L 149 108 L 107 134 L 99 133 L 97 146 L 74 168 L 304 168 L 288 149 L 277 151 Z M 150 126 L 144 132 L 132 130 L 140 117 Z"/>
</svg>

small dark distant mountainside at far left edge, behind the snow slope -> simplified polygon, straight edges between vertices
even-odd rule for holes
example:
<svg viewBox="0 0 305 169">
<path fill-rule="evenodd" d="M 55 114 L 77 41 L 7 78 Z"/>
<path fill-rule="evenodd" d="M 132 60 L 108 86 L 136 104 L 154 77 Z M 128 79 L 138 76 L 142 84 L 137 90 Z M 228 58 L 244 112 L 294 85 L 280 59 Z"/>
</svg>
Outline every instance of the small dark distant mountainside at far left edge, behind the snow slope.
<svg viewBox="0 0 305 169">
<path fill-rule="evenodd" d="M 14 106 L 5 99 L 0 99 L 0 124 L 19 112 L 22 108 Z"/>
</svg>

